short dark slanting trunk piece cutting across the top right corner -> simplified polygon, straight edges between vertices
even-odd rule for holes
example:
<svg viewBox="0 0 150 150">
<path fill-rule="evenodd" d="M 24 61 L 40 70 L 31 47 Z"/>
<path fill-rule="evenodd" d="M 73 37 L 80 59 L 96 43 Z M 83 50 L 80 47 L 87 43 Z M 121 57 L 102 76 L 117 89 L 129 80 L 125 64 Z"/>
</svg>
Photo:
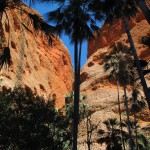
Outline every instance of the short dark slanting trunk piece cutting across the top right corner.
<svg viewBox="0 0 150 150">
<path fill-rule="evenodd" d="M 146 5 L 145 0 L 136 0 L 136 3 L 144 14 L 147 22 L 150 24 L 150 9 Z"/>
</svg>

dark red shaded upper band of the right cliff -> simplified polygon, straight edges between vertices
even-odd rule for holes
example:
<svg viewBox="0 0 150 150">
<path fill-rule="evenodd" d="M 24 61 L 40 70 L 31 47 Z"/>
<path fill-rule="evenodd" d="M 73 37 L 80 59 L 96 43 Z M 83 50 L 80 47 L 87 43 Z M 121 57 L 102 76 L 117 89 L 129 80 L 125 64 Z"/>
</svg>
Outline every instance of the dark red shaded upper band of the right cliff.
<svg viewBox="0 0 150 150">
<path fill-rule="evenodd" d="M 150 6 L 150 1 L 147 0 L 146 2 Z M 143 13 L 139 12 L 134 19 L 128 20 L 130 30 L 144 19 Z M 114 21 L 112 24 L 104 23 L 99 35 L 95 35 L 95 39 L 88 41 L 88 58 L 97 49 L 112 45 L 120 39 L 123 33 L 125 33 L 125 28 L 122 20 Z"/>
</svg>

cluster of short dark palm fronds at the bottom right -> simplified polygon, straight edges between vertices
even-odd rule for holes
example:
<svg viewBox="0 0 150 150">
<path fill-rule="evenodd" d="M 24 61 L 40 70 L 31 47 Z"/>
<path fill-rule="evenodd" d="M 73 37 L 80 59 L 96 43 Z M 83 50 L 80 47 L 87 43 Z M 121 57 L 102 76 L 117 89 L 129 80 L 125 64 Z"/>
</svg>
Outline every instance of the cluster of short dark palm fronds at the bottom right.
<svg viewBox="0 0 150 150">
<path fill-rule="evenodd" d="M 127 132 L 127 121 L 122 122 L 122 127 L 123 130 L 120 130 L 120 124 L 118 123 L 116 118 L 111 118 L 108 120 L 105 120 L 104 125 L 106 127 L 106 130 L 100 129 L 98 132 L 99 139 L 98 143 L 106 144 L 106 150 L 122 150 L 122 139 L 121 139 L 121 132 L 123 135 L 123 140 L 126 143 L 126 149 L 129 148 L 129 134 Z M 134 133 L 135 127 L 139 129 L 139 125 L 137 122 L 135 123 L 134 121 L 130 121 L 130 126 L 132 129 L 132 137 L 133 137 L 133 147 L 136 149 L 136 135 Z M 144 133 L 139 132 L 137 134 L 137 146 L 139 150 L 148 150 L 148 139 L 144 135 Z"/>
</svg>

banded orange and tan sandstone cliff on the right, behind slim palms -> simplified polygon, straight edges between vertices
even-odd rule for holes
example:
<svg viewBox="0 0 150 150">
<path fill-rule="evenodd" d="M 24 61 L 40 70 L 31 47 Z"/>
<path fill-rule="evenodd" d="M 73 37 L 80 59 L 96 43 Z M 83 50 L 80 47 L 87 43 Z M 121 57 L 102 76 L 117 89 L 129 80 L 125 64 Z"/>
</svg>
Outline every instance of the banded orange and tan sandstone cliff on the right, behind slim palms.
<svg viewBox="0 0 150 150">
<path fill-rule="evenodd" d="M 135 47 L 137 49 L 140 59 L 150 60 L 150 48 L 141 44 L 141 37 L 150 33 L 150 25 L 144 20 L 141 13 L 137 15 L 134 20 L 128 22 Z M 101 29 L 101 34 L 96 37 L 95 40 L 89 41 L 88 46 L 88 60 L 81 71 L 81 93 L 87 95 L 85 103 L 89 104 L 92 111 L 92 123 L 98 124 L 97 130 L 92 135 L 92 150 L 103 150 L 104 145 L 96 143 L 97 131 L 104 127 L 103 121 L 108 118 L 118 118 L 118 106 L 117 106 L 117 87 L 108 80 L 107 74 L 103 69 L 103 58 L 106 54 L 109 54 L 110 46 L 113 43 L 123 43 L 129 46 L 127 35 L 123 28 L 122 22 L 114 22 L 112 25 L 104 24 Z M 150 68 L 150 64 L 148 66 Z M 150 74 L 147 75 L 147 83 L 150 87 Z M 141 89 L 142 90 L 142 89 Z M 127 90 L 128 96 L 131 93 L 131 89 Z M 122 101 L 121 109 L 124 112 L 123 104 L 123 89 L 120 87 L 120 99 Z M 125 117 L 125 116 L 123 116 Z M 131 116 L 132 118 L 132 116 Z M 148 110 L 144 110 L 140 117 L 141 127 L 150 126 L 150 115 Z M 86 140 L 86 120 L 81 122 L 79 130 L 79 144 L 81 150 L 86 150 L 87 145 L 84 142 Z"/>
</svg>

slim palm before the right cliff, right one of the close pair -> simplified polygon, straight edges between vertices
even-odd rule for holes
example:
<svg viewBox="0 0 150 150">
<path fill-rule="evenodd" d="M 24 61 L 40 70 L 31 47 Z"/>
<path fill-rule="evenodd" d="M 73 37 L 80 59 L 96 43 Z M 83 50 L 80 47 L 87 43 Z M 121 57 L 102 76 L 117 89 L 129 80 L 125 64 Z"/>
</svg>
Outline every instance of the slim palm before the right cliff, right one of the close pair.
<svg viewBox="0 0 150 150">
<path fill-rule="evenodd" d="M 111 70 L 111 74 L 115 75 L 116 80 L 120 83 L 120 85 L 123 86 L 124 90 L 124 103 L 126 107 L 126 115 L 127 115 L 127 123 L 128 123 L 128 131 L 129 131 L 129 138 L 130 138 L 130 147 L 133 149 L 133 141 L 132 141 L 132 132 L 130 127 L 130 118 L 129 118 L 129 108 L 128 108 L 128 98 L 126 93 L 126 85 L 132 83 L 132 74 L 131 71 L 131 62 L 132 57 L 129 54 L 127 54 L 127 47 L 123 46 L 122 44 L 118 45 L 118 47 L 115 47 L 115 52 L 111 56 L 111 65 L 113 67 L 113 70 Z M 114 69 L 115 68 L 115 69 Z M 121 112 L 120 112 L 121 114 Z M 120 118 L 120 122 L 121 122 Z"/>
</svg>

